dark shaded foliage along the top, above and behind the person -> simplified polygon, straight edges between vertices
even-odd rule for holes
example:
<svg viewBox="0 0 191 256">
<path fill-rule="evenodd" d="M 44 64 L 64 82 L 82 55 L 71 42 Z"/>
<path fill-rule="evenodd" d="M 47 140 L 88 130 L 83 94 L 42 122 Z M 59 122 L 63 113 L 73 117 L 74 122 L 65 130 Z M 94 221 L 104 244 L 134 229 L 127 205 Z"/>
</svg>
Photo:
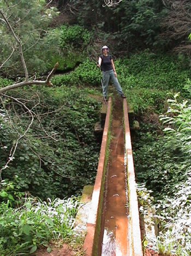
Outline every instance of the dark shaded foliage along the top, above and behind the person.
<svg viewBox="0 0 191 256">
<path fill-rule="evenodd" d="M 187 0 L 123 0 L 113 8 L 103 7 L 104 1 L 96 0 L 56 3 L 65 16 L 70 15 L 70 24 L 93 28 L 94 41 L 106 42 L 118 54 L 145 47 L 157 51 L 176 48 L 178 52 L 190 54 L 190 3 Z"/>
</svg>

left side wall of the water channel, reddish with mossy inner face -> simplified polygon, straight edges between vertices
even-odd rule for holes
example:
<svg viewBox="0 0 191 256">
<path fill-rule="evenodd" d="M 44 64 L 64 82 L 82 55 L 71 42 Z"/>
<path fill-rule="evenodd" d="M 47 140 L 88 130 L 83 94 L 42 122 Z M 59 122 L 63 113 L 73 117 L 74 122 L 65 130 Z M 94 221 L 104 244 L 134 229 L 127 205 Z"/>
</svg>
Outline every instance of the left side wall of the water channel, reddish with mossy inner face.
<svg viewBox="0 0 191 256">
<path fill-rule="evenodd" d="M 102 221 L 103 200 L 104 200 L 104 186 L 105 186 L 105 165 L 106 165 L 106 151 L 109 141 L 111 117 L 111 98 L 108 101 L 108 110 L 105 119 L 104 133 L 102 138 L 102 145 L 100 149 L 100 156 L 98 162 L 97 176 L 94 184 L 91 209 L 87 221 L 87 234 L 83 248 L 87 256 L 99 255 L 100 229 Z"/>
</svg>

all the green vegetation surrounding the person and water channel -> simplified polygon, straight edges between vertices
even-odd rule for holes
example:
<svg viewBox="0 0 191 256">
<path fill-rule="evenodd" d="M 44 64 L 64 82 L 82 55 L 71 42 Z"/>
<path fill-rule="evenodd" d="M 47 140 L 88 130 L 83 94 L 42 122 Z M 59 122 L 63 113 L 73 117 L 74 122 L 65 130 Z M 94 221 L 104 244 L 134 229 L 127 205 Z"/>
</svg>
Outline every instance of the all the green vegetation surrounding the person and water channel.
<svg viewBox="0 0 191 256">
<path fill-rule="evenodd" d="M 144 245 L 190 255 L 190 4 L 103 3 L 0 2 L 0 88 L 27 75 L 44 80 L 56 62 L 63 72 L 51 79 L 53 87 L 0 95 L 1 255 L 27 255 L 39 246 L 50 252 L 50 241 L 81 239 L 73 233 L 79 199 L 71 196 L 96 177 L 100 144 L 93 128 L 102 98 L 96 64 L 104 44 L 141 127 L 133 136 L 140 211 L 155 211 L 151 222 L 158 225 L 157 239 L 146 236 Z"/>
</svg>

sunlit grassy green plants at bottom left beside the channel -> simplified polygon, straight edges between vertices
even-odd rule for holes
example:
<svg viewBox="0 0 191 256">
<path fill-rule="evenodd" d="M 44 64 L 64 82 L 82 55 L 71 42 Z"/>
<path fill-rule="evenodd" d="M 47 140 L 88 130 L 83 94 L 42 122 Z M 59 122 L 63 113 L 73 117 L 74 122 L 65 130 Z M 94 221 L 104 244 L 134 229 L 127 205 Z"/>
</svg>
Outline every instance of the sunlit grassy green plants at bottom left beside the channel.
<svg viewBox="0 0 191 256">
<path fill-rule="evenodd" d="M 28 198 L 22 207 L 13 209 L 0 204 L 0 253 L 23 255 L 34 253 L 51 240 L 68 239 L 73 234 L 79 200 L 75 197 L 43 202 Z"/>
</svg>

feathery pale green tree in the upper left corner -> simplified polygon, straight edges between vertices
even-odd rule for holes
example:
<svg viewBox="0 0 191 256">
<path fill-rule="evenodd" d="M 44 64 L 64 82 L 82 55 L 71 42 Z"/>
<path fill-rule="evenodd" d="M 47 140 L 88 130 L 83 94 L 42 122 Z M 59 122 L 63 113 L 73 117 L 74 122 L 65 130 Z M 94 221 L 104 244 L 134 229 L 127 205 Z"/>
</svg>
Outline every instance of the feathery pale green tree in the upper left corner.
<svg viewBox="0 0 191 256">
<path fill-rule="evenodd" d="M 43 47 L 41 42 L 52 17 L 56 14 L 55 8 L 46 8 L 45 4 L 43 0 L 16 0 L 0 3 L 2 74 L 21 75 L 23 59 L 30 73 L 44 71 L 45 62 L 40 50 L 40 47 Z M 20 59 L 21 55 L 22 59 Z"/>
</svg>

